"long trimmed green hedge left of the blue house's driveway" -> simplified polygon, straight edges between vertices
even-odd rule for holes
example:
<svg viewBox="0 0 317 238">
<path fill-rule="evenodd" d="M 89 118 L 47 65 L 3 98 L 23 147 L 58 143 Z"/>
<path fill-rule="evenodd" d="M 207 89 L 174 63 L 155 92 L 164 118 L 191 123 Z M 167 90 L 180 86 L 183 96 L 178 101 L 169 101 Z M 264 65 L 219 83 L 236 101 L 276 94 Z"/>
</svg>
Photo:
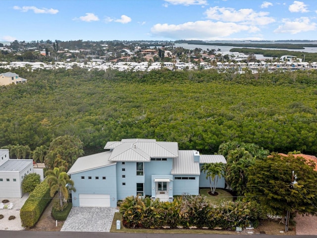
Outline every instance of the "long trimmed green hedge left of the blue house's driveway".
<svg viewBox="0 0 317 238">
<path fill-rule="evenodd" d="M 50 186 L 46 181 L 43 181 L 30 193 L 20 210 L 22 227 L 33 227 L 51 200 Z"/>
</svg>

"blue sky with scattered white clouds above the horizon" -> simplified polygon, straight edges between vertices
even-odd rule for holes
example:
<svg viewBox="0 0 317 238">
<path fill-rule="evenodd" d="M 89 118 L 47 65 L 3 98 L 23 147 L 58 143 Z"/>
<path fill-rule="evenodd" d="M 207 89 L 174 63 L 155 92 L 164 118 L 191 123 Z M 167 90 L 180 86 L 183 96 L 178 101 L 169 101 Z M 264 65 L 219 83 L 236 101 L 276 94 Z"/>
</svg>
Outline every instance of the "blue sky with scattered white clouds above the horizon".
<svg viewBox="0 0 317 238">
<path fill-rule="evenodd" d="M 0 41 L 317 40 L 317 0 L 1 0 Z"/>
</svg>

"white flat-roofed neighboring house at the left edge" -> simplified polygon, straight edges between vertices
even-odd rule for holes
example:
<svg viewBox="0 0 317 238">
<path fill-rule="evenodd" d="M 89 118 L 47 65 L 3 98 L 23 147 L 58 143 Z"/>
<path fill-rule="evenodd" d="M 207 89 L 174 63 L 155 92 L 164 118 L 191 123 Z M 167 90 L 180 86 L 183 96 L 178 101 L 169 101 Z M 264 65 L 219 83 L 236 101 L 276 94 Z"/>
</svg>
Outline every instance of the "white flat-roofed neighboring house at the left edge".
<svg viewBox="0 0 317 238">
<path fill-rule="evenodd" d="M 9 150 L 0 149 L 0 197 L 22 197 L 23 178 L 32 174 L 33 160 L 9 159 Z"/>
</svg>

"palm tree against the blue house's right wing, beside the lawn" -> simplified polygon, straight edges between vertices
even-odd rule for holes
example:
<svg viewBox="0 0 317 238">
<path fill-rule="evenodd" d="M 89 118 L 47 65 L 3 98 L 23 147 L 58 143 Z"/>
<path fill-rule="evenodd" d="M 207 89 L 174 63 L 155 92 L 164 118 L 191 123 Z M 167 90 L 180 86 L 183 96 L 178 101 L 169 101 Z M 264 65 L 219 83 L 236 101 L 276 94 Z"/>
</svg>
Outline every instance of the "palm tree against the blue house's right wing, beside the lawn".
<svg viewBox="0 0 317 238">
<path fill-rule="evenodd" d="M 201 172 L 206 173 L 206 179 L 209 179 L 212 194 L 216 190 L 218 178 L 220 176 L 222 176 L 222 177 L 224 176 L 224 168 L 225 168 L 225 166 L 221 162 L 219 162 L 219 163 L 205 163 L 201 168 Z M 213 182 L 213 186 L 212 186 L 211 182 Z"/>
</svg>

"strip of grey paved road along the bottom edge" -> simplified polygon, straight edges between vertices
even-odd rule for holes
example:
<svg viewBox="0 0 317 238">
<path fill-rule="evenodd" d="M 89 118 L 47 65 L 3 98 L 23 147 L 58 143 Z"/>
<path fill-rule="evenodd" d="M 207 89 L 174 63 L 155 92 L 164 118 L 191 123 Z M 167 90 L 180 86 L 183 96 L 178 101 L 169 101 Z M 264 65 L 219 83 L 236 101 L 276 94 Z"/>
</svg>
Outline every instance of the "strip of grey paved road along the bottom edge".
<svg viewBox="0 0 317 238">
<path fill-rule="evenodd" d="M 211 235 L 211 234 L 136 234 L 106 232 L 30 232 L 0 231 L 0 238 L 312 238 L 312 236 Z"/>
</svg>

